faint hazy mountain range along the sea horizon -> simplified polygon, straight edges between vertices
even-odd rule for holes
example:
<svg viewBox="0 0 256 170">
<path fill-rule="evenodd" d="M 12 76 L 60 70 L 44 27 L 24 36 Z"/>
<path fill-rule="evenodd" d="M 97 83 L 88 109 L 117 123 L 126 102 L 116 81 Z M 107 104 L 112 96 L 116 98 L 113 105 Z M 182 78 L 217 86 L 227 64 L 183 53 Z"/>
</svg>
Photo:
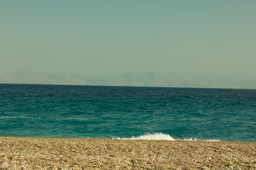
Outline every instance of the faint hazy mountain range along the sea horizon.
<svg viewBox="0 0 256 170">
<path fill-rule="evenodd" d="M 0 72 L 0 83 L 256 89 L 256 79 L 247 79 L 241 76 L 218 77 L 210 74 L 153 72 L 136 72 L 104 77 L 92 77 L 86 74 L 46 74 L 33 71 Z"/>
</svg>

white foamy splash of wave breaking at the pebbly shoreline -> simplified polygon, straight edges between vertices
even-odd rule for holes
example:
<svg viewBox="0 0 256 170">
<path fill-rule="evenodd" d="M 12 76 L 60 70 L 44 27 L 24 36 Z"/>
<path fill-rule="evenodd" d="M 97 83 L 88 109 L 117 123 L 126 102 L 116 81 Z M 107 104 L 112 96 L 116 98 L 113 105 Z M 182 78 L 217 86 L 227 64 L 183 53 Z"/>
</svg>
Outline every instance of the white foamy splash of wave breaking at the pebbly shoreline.
<svg viewBox="0 0 256 170">
<path fill-rule="evenodd" d="M 140 135 L 137 137 L 114 137 L 113 139 L 118 139 L 118 140 L 186 140 L 186 141 L 220 141 L 220 140 L 201 140 L 197 138 L 183 138 L 183 139 L 174 139 L 174 137 L 171 137 L 170 135 L 161 133 L 161 132 L 156 132 L 156 133 L 145 133 L 144 135 Z"/>
</svg>

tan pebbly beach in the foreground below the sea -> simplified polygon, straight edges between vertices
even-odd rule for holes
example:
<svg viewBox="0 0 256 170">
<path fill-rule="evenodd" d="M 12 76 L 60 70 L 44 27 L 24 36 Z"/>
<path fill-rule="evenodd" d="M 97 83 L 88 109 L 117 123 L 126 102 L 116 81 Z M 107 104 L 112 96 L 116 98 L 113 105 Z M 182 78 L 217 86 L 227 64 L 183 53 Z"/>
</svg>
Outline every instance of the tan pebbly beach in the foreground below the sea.
<svg viewBox="0 0 256 170">
<path fill-rule="evenodd" d="M 256 142 L 0 137 L 0 169 L 256 169 Z"/>
</svg>

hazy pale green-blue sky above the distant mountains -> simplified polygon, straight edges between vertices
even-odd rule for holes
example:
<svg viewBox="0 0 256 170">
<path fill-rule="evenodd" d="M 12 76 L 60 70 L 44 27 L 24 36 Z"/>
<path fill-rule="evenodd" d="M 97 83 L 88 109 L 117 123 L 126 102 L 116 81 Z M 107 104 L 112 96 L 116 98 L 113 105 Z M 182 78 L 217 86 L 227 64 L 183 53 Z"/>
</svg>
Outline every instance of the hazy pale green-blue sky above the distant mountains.
<svg viewBox="0 0 256 170">
<path fill-rule="evenodd" d="M 0 1 L 0 71 L 256 78 L 256 1 Z"/>
</svg>

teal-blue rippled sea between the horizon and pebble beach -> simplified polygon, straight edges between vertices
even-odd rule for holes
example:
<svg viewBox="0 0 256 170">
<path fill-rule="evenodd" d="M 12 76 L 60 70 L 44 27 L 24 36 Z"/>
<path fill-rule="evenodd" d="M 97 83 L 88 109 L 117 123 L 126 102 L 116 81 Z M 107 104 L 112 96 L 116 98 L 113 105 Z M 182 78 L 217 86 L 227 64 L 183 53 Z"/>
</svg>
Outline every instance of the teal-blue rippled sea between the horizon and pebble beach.
<svg viewBox="0 0 256 170">
<path fill-rule="evenodd" d="M 256 142 L 256 90 L 0 84 L 0 136 Z"/>
</svg>

